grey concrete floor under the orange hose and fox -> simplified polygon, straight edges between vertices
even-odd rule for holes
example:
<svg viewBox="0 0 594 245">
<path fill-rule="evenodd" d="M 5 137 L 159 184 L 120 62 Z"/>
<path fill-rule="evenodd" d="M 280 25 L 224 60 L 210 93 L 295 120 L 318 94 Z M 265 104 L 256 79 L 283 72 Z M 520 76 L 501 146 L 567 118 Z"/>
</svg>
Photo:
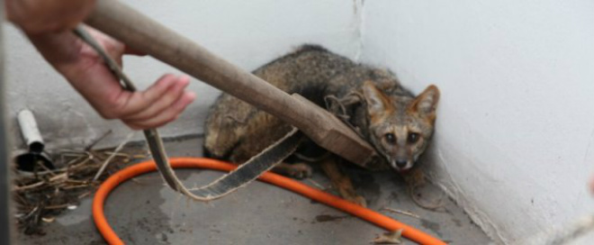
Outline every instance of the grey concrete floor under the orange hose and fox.
<svg viewBox="0 0 594 245">
<path fill-rule="evenodd" d="M 199 138 L 168 141 L 170 156 L 202 155 Z M 382 213 L 451 244 L 489 244 L 491 241 L 451 200 L 443 197 L 441 211 L 414 204 L 403 180 L 392 172 L 371 173 L 353 168 L 357 191 L 374 210 L 383 207 L 418 214 L 414 218 Z M 209 170 L 177 170 L 186 186 L 219 177 Z M 311 178 L 329 186 L 320 173 Z M 311 181 L 305 180 L 311 185 Z M 435 187 L 422 190 L 428 200 L 442 195 Z M 128 244 L 372 244 L 384 231 L 369 222 L 284 189 L 255 182 L 209 204 L 188 201 L 148 174 L 118 187 L 107 200 L 105 213 L 113 229 Z M 103 244 L 91 218 L 91 199 L 45 224 L 44 236 L 17 235 L 18 244 Z M 405 240 L 403 244 L 415 244 Z"/>
</svg>

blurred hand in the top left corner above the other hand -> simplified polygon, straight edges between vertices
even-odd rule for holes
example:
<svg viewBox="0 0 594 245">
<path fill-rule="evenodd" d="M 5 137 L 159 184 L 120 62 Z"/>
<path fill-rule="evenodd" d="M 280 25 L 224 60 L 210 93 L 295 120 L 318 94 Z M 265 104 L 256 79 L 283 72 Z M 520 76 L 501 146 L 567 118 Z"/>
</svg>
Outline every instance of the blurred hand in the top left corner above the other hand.
<svg viewBox="0 0 594 245">
<path fill-rule="evenodd" d="M 23 32 L 41 34 L 72 30 L 93 10 L 95 0 L 5 0 L 8 20 Z"/>
</svg>

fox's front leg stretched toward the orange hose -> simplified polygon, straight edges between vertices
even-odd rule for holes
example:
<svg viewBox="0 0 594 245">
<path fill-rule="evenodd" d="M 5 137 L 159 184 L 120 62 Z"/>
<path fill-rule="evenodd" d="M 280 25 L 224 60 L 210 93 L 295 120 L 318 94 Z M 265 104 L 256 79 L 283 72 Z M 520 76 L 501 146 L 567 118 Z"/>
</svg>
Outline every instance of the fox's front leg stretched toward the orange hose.
<svg viewBox="0 0 594 245">
<path fill-rule="evenodd" d="M 365 198 L 357 195 L 351 179 L 338 168 L 338 163 L 334 158 L 326 158 L 321 161 L 321 168 L 332 181 L 332 186 L 337 188 L 338 194 L 356 204 L 367 206 Z"/>
</svg>

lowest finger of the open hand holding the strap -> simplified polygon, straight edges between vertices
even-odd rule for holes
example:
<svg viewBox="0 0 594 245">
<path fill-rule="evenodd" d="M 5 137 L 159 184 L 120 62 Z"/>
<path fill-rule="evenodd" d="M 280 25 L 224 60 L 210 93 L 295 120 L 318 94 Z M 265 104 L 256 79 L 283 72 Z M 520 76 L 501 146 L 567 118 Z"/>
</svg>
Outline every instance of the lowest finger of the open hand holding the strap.
<svg viewBox="0 0 594 245">
<path fill-rule="evenodd" d="M 163 126 L 168 122 L 175 121 L 179 114 L 184 111 L 185 107 L 187 107 L 188 104 L 191 104 L 195 98 L 196 95 L 193 92 L 185 92 L 184 95 L 182 95 L 175 102 L 175 104 L 172 104 L 170 107 L 168 107 L 162 113 L 157 114 L 155 117 L 142 121 L 124 122 L 132 129 L 149 129 Z"/>
</svg>

